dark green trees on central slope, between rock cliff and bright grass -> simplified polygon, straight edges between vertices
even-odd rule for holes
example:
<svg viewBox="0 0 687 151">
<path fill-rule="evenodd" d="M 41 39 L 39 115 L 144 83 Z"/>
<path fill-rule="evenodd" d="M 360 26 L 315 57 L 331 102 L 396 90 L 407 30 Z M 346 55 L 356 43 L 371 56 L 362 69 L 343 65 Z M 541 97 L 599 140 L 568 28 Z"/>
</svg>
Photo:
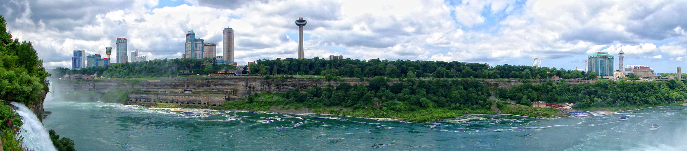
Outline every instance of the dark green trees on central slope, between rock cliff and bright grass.
<svg viewBox="0 0 687 151">
<path fill-rule="evenodd" d="M 300 92 L 286 92 L 286 99 L 306 106 L 343 106 L 380 108 L 393 111 L 415 111 L 418 108 L 488 109 L 491 94 L 486 86 L 475 80 L 407 80 L 388 84 L 387 78 L 376 76 L 369 85 L 311 87 Z M 375 99 L 376 98 L 376 99 Z"/>
</svg>

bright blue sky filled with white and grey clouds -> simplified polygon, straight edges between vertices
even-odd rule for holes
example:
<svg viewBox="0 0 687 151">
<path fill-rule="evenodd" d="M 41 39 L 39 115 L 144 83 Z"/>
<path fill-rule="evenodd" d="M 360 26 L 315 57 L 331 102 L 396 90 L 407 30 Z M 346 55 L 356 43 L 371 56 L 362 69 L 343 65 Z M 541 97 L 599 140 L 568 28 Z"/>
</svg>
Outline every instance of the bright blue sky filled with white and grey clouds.
<svg viewBox="0 0 687 151">
<path fill-rule="evenodd" d="M 101 54 L 127 38 L 148 59 L 181 58 L 185 34 L 217 44 L 234 29 L 238 65 L 296 58 L 302 16 L 306 58 L 441 60 L 583 69 L 595 51 L 625 52 L 624 65 L 687 67 L 687 1 L 225 1 L 3 0 L 14 38 L 44 66 L 71 67 L 72 51 Z M 115 51 L 115 49 L 113 49 Z M 113 52 L 113 61 L 116 55 Z"/>
</svg>

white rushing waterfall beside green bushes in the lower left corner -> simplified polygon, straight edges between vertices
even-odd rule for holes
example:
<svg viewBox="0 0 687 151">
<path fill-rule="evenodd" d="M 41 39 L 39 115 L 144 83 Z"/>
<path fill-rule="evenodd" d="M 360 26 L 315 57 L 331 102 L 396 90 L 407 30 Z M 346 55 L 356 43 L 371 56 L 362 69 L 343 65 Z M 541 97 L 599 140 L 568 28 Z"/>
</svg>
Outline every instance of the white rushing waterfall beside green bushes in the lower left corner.
<svg viewBox="0 0 687 151">
<path fill-rule="evenodd" d="M 21 126 L 19 136 L 24 137 L 22 142 L 24 148 L 30 150 L 56 150 L 55 146 L 52 145 L 52 141 L 50 141 L 47 130 L 43 127 L 43 123 L 38 121 L 36 115 L 22 103 L 12 102 L 12 105 L 19 108 L 16 110 L 16 113 L 19 113 L 22 117 L 21 122 L 23 125 Z"/>
</svg>

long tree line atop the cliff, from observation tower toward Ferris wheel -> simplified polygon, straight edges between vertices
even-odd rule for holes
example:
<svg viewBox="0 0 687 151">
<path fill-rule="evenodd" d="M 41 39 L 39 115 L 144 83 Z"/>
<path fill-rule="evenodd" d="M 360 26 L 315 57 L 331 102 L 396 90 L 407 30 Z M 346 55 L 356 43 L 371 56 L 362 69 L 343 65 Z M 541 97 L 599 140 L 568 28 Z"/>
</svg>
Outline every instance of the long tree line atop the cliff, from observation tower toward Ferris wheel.
<svg viewBox="0 0 687 151">
<path fill-rule="evenodd" d="M 564 70 L 548 67 L 497 65 L 489 67 L 487 64 L 466 62 L 443 62 L 422 60 L 325 60 L 294 59 L 257 60 L 250 66 L 251 74 L 258 75 L 333 75 L 354 78 L 372 78 L 385 76 L 389 78 L 405 77 L 405 73 L 412 71 L 418 77 L 433 78 L 536 78 L 544 79 L 552 76 L 560 78 L 594 78 L 596 73 L 589 75 L 584 71 Z"/>
</svg>

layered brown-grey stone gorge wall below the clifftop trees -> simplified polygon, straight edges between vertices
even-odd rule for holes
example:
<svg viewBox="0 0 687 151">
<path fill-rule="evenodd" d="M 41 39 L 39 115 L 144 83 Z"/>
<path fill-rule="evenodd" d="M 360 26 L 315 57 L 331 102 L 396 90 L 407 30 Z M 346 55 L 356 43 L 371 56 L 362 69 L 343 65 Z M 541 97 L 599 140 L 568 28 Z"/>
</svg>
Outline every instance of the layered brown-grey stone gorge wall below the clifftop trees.
<svg viewBox="0 0 687 151">
<path fill-rule="evenodd" d="M 70 93 L 73 91 L 97 91 L 107 93 L 113 89 L 135 89 L 144 91 L 228 93 L 245 96 L 251 93 L 282 92 L 288 89 L 305 89 L 311 86 L 338 86 L 338 81 L 315 79 L 273 79 L 248 77 L 217 77 L 217 78 L 160 78 L 160 79 L 100 79 L 100 80 L 52 80 L 56 93 Z M 358 79 L 345 80 L 350 84 L 368 84 Z M 392 80 L 391 83 L 397 82 Z M 519 80 L 488 79 L 480 80 L 490 88 L 504 86 L 507 89 L 523 84 Z M 541 82 L 532 80 L 532 84 Z"/>
</svg>

